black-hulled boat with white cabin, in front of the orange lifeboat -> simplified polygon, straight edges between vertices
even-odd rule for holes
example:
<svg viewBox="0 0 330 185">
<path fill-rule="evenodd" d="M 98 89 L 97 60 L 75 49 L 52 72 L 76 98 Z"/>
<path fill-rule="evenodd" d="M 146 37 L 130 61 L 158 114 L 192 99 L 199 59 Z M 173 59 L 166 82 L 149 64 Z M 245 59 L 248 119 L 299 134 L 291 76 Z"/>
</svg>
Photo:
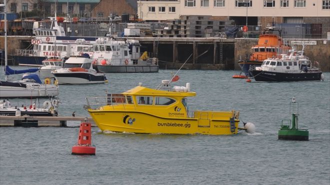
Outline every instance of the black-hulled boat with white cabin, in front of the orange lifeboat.
<svg viewBox="0 0 330 185">
<path fill-rule="evenodd" d="M 249 69 L 255 81 L 279 82 L 279 81 L 314 81 L 324 80 L 322 71 L 318 68 L 318 62 L 312 63 L 303 55 L 302 50 L 295 52 L 295 47 L 290 50 L 290 55 L 282 55 L 281 58 L 268 58 L 262 62 L 261 67 Z"/>
</svg>

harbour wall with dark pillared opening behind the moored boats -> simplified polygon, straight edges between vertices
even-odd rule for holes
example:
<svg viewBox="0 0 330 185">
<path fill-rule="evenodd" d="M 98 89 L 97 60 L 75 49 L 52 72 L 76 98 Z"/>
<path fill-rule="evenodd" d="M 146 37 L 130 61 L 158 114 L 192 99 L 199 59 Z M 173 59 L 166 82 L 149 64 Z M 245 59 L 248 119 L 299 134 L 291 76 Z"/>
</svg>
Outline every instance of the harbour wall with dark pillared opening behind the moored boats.
<svg viewBox="0 0 330 185">
<path fill-rule="evenodd" d="M 8 36 L 8 63 L 18 65 L 11 55 L 16 49 L 26 49 L 30 46 L 33 36 Z M 124 38 L 116 38 L 124 39 Z M 183 69 L 202 70 L 240 70 L 237 62 L 245 59 L 251 52 L 251 47 L 257 44 L 253 38 L 159 38 L 131 37 L 139 40 L 142 51 L 158 57 L 160 68 L 179 68 L 186 61 Z M 309 41 L 314 45 L 306 45 L 304 54 L 311 61 L 318 61 L 322 71 L 330 71 L 330 40 L 326 39 L 289 39 Z M 302 48 L 297 45 L 297 50 Z M 0 36 L 0 55 L 4 51 L 4 37 Z M 2 62 L 4 56 L 1 56 Z"/>
</svg>

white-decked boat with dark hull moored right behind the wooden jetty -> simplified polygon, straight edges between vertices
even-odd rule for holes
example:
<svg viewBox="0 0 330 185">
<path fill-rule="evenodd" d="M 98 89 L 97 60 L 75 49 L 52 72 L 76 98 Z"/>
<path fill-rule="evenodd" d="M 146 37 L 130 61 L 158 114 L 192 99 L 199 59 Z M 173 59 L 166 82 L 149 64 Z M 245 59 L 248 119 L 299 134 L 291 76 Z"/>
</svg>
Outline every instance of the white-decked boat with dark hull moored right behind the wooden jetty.
<svg viewBox="0 0 330 185">
<path fill-rule="evenodd" d="M 12 105 L 8 100 L 0 102 L 1 116 L 58 116 L 58 101 L 47 100 L 42 104 L 36 99 L 30 106 Z"/>
</svg>

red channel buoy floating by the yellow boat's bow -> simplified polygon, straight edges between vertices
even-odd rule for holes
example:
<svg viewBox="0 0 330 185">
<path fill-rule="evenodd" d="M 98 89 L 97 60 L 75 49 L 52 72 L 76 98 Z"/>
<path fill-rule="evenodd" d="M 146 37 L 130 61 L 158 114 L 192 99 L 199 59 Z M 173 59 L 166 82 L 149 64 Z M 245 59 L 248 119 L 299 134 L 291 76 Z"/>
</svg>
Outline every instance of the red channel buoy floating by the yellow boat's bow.
<svg viewBox="0 0 330 185">
<path fill-rule="evenodd" d="M 78 144 L 72 147 L 72 155 L 95 155 L 96 148 L 91 145 L 91 124 L 80 123 Z"/>
</svg>

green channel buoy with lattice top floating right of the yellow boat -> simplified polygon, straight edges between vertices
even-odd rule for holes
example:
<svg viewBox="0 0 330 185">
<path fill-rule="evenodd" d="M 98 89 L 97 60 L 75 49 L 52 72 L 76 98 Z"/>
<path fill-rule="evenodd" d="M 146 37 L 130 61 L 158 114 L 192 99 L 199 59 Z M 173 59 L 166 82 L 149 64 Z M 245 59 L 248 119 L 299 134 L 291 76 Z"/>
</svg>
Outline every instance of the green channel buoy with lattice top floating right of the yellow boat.
<svg viewBox="0 0 330 185">
<path fill-rule="evenodd" d="M 290 114 L 292 114 L 292 121 L 282 120 L 278 131 L 279 140 L 308 141 L 308 130 L 298 129 L 298 109 L 299 104 L 295 101 L 295 97 L 293 97 L 292 102 L 290 103 Z M 284 125 L 283 122 L 287 122 L 289 124 Z"/>
</svg>

